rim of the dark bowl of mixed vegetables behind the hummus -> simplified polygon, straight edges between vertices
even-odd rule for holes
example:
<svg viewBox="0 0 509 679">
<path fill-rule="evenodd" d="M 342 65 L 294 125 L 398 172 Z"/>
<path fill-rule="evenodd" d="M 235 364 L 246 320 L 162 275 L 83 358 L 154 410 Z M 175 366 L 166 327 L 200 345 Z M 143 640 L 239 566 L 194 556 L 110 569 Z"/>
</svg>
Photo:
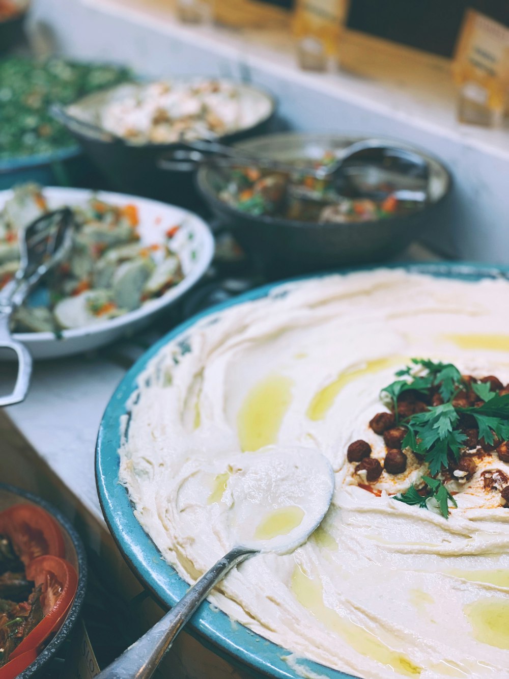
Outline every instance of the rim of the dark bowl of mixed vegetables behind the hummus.
<svg viewBox="0 0 509 679">
<path fill-rule="evenodd" d="M 428 212 L 430 209 L 434 209 L 436 206 L 440 205 L 446 198 L 449 196 L 451 193 L 451 188 L 453 186 L 453 179 L 451 172 L 445 166 L 445 164 L 442 162 L 442 160 L 438 160 L 436 156 L 432 155 L 431 153 L 428 153 L 425 149 L 421 149 L 418 146 L 415 146 L 413 144 L 407 143 L 406 141 L 402 139 L 394 139 L 390 136 L 378 136 L 378 135 L 367 135 L 367 134 L 361 134 L 360 132 L 355 133 L 355 132 L 345 132 L 344 134 L 341 132 L 276 132 L 276 134 L 263 134 L 261 136 L 253 137 L 252 139 L 245 139 L 242 140 L 238 143 L 235 143 L 235 146 L 238 146 L 239 148 L 241 147 L 248 147 L 250 150 L 252 150 L 253 147 L 257 145 L 257 142 L 264 142 L 268 141 L 273 138 L 278 138 L 282 139 L 284 137 L 290 138 L 294 136 L 296 139 L 304 139 L 304 138 L 309 138 L 309 139 L 350 139 L 353 141 L 358 141 L 360 139 L 370 139 L 371 137 L 376 137 L 377 139 L 383 139 L 383 141 L 390 141 L 396 145 L 404 145 L 407 148 L 411 148 L 413 151 L 416 151 L 419 153 L 419 155 L 423 155 L 423 157 L 428 160 L 432 160 L 435 162 L 438 166 L 440 166 L 440 169 L 444 173 L 444 179 L 445 179 L 445 185 L 444 185 L 444 191 L 442 192 L 442 195 L 438 200 L 435 200 L 434 202 L 424 206 L 423 208 L 419 210 L 413 210 L 413 212 L 407 214 L 407 215 L 395 215 L 394 217 L 384 217 L 384 219 L 364 219 L 362 221 L 355 221 L 355 222 L 344 222 L 344 223 L 338 223 L 338 222 L 316 222 L 316 221 L 301 221 L 299 219 L 282 219 L 280 217 L 271 217 L 270 215 L 250 215 L 249 213 L 242 212 L 242 210 L 238 210 L 234 208 L 233 206 L 229 205 L 227 202 L 224 200 L 221 200 L 219 196 L 217 196 L 216 191 L 212 189 L 212 186 L 209 181 L 209 176 L 212 175 L 214 170 L 210 166 L 202 165 L 197 169 L 197 172 L 195 173 L 195 185 L 197 187 L 198 192 L 200 193 L 200 196 L 206 201 L 206 203 L 212 207 L 214 212 L 219 212 L 219 213 L 226 213 L 229 215 L 229 219 L 231 221 L 239 221 L 239 220 L 252 220 L 257 223 L 257 225 L 265 225 L 267 227 L 290 227 L 293 229 L 304 229 L 304 228 L 309 228 L 313 227 L 316 228 L 317 226 L 320 227 L 320 229 L 326 229 L 326 230 L 351 230 L 354 227 L 362 227 L 362 225 L 366 224 L 375 224 L 375 223 L 383 223 L 383 224 L 392 224 L 394 222 L 399 222 L 399 221 L 404 221 L 408 220 L 409 218 L 413 218 L 415 215 L 421 215 L 423 213 Z"/>
</svg>

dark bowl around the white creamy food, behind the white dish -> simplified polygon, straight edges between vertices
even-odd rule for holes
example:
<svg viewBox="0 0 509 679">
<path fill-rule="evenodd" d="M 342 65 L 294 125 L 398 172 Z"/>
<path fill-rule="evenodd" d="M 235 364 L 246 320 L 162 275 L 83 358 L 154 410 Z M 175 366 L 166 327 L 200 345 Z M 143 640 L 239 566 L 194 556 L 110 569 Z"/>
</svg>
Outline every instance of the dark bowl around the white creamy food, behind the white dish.
<svg viewBox="0 0 509 679">
<path fill-rule="evenodd" d="M 183 78 L 182 78 L 183 79 Z M 195 78 L 193 78 L 195 79 Z M 223 81 L 223 78 L 220 78 Z M 254 96 L 267 101 L 267 114 L 256 124 L 238 130 L 221 138 L 220 141 L 233 143 L 246 139 L 253 134 L 268 132 L 276 111 L 276 100 L 271 94 L 259 87 L 237 84 L 239 88 L 251 92 Z M 75 102 L 67 111 L 86 107 L 91 111 L 99 108 L 111 90 L 88 95 Z M 197 195 L 193 183 L 193 168 L 187 171 L 163 170 L 158 161 L 168 153 L 172 144 L 129 145 L 115 141 L 104 141 L 88 132 L 85 127 L 67 124 L 67 129 L 81 144 L 88 158 L 108 179 L 111 187 L 126 194 L 135 194 L 145 198 L 164 200 L 187 208 L 195 208 Z"/>
</svg>

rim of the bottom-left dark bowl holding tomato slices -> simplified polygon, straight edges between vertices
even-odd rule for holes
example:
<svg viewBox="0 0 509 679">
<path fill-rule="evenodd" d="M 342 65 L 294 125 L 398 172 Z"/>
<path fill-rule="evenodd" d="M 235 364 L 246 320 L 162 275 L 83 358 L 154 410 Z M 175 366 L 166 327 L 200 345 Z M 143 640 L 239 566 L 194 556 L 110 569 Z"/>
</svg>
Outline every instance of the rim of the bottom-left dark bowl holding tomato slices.
<svg viewBox="0 0 509 679">
<path fill-rule="evenodd" d="M 33 676 L 36 672 L 39 672 L 41 667 L 55 655 L 60 645 L 71 633 L 79 617 L 79 613 L 81 612 L 81 606 L 83 606 L 83 600 L 85 598 L 88 579 L 86 553 L 85 547 L 83 547 L 83 543 L 81 542 L 81 538 L 79 537 L 75 528 L 71 524 L 71 521 L 69 521 L 67 517 L 65 517 L 58 509 L 56 509 L 56 507 L 50 504 L 50 502 L 46 502 L 46 500 L 39 498 L 39 496 L 27 490 L 22 490 L 21 488 L 17 488 L 14 485 L 10 485 L 10 483 L 0 483 L 0 492 L 1 491 L 7 491 L 16 494 L 24 500 L 30 500 L 30 502 L 38 504 L 39 507 L 42 507 L 43 509 L 45 509 L 45 511 L 50 513 L 58 521 L 60 526 L 62 526 L 62 528 L 64 528 L 64 530 L 69 534 L 71 542 L 73 543 L 73 547 L 76 551 L 76 557 L 79 568 L 78 585 L 76 589 L 75 598 L 71 608 L 69 609 L 69 612 L 67 613 L 67 617 L 64 620 L 64 624 L 62 625 L 62 627 L 60 627 L 60 629 L 58 630 L 54 638 L 50 641 L 48 646 L 46 646 L 44 650 L 41 653 L 39 653 L 39 655 L 33 661 L 33 663 L 31 663 L 28 667 L 26 667 L 26 669 L 23 670 L 21 674 L 18 675 L 18 679 L 29 679 L 29 677 Z"/>
</svg>

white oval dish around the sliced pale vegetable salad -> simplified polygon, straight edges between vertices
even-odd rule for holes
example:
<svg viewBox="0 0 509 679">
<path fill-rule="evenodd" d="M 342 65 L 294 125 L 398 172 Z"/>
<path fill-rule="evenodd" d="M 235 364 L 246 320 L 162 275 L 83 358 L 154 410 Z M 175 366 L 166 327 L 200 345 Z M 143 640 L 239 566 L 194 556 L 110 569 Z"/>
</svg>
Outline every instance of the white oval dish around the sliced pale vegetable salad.
<svg viewBox="0 0 509 679">
<path fill-rule="evenodd" d="M 64 205 L 85 205 L 92 195 L 115 205 L 135 204 L 140 221 L 138 232 L 141 242 L 147 245 L 164 242 L 166 231 L 181 224 L 181 229 L 172 240 L 172 246 L 181 258 L 184 278 L 162 297 L 151 299 L 140 308 L 103 323 L 64 330 L 60 337 L 54 333 L 16 333 L 16 339 L 29 349 L 34 359 L 53 359 L 90 351 L 142 329 L 193 287 L 212 261 L 214 238 L 208 226 L 203 219 L 183 208 L 148 198 L 107 191 L 92 192 L 88 189 L 47 187 L 43 189 L 43 194 L 52 209 Z M 11 197 L 12 190 L 0 191 L 0 210 Z"/>
</svg>

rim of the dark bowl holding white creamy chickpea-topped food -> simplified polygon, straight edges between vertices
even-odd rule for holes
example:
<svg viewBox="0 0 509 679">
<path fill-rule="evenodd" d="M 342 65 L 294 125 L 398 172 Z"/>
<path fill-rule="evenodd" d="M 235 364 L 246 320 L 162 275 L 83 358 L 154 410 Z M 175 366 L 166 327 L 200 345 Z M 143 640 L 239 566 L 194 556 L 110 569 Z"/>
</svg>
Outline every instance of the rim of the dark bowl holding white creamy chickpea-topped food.
<svg viewBox="0 0 509 679">
<path fill-rule="evenodd" d="M 191 81 L 195 79 L 210 79 L 210 80 L 219 80 L 221 82 L 229 83 L 233 86 L 242 86 L 244 88 L 248 88 L 249 90 L 252 90 L 254 92 L 258 92 L 259 94 L 263 94 L 267 101 L 269 102 L 269 111 L 267 112 L 267 115 L 264 117 L 260 118 L 257 120 L 257 122 L 253 123 L 252 125 L 248 127 L 243 127 L 239 128 L 238 130 L 233 130 L 233 132 L 229 132 L 228 134 L 223 134 L 221 136 L 214 137 L 214 141 L 235 141 L 238 136 L 244 135 L 244 134 L 249 134 L 250 132 L 253 132 L 260 128 L 261 126 L 265 125 L 269 120 L 271 120 L 271 117 L 273 117 L 276 113 L 276 110 L 278 109 L 278 99 L 272 92 L 267 90 L 267 88 L 253 84 L 251 82 L 244 82 L 244 81 L 238 81 L 235 80 L 234 78 L 228 78 L 228 77 L 222 77 L 221 75 L 207 75 L 203 73 L 189 73 L 187 75 L 173 75 L 173 76 L 168 76 L 168 77 L 160 77 L 160 78 L 147 78 L 143 77 L 141 75 L 135 76 L 134 79 L 129 82 L 126 81 L 125 83 L 119 83 L 118 85 L 113 85 L 110 88 L 104 88 L 103 90 L 97 90 L 97 92 L 107 92 L 109 90 L 115 90 L 116 88 L 121 87 L 122 85 L 129 85 L 129 84 L 149 84 L 151 82 L 158 82 L 158 81 Z M 86 94 L 85 96 L 80 96 L 78 99 L 73 101 L 71 104 L 66 105 L 65 109 L 69 109 L 72 106 L 79 105 L 83 99 L 91 96 L 92 94 L 96 94 L 96 92 L 91 92 L 90 94 Z M 69 114 L 71 115 L 71 114 Z M 78 132 L 77 130 L 71 129 L 71 126 L 67 126 L 64 124 L 64 126 L 67 128 L 68 132 L 70 132 L 73 136 L 75 136 L 77 139 L 87 139 L 90 141 L 94 141 L 94 143 L 98 144 L 103 144 L 105 146 L 111 145 L 123 145 L 128 149 L 152 149 L 153 151 L 168 151 L 172 149 L 178 142 L 171 142 L 171 143 L 166 143 L 166 144 L 157 144 L 157 143 L 144 143 L 144 144 L 129 144 L 129 143 L 124 143 L 123 140 L 119 141 L 117 139 L 113 139 L 112 141 L 106 141 L 105 139 L 98 139 L 98 137 L 94 136 L 93 134 L 86 134 L 84 131 L 83 132 Z M 84 128 L 83 128 L 84 130 Z"/>
</svg>

